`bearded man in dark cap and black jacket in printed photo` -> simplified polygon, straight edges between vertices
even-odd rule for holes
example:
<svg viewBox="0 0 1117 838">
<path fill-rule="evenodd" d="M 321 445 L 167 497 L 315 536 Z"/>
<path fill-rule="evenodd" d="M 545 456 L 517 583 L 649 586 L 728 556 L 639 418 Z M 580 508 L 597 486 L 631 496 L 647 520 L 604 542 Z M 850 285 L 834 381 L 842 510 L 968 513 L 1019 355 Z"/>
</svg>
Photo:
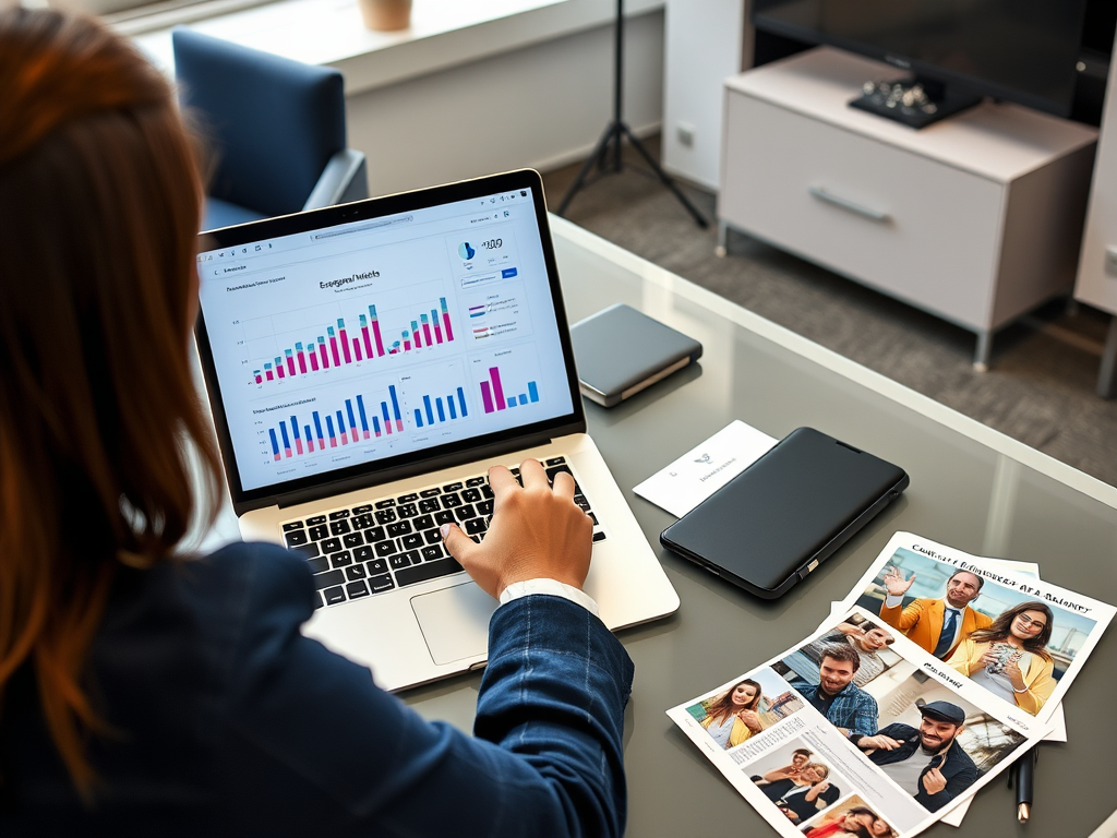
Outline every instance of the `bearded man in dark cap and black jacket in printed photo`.
<svg viewBox="0 0 1117 838">
<path fill-rule="evenodd" d="M 977 766 L 955 737 L 966 714 L 956 704 L 930 702 L 919 707 L 916 730 L 895 723 L 871 736 L 850 736 L 880 770 L 930 811 L 938 811 L 977 780 Z"/>
</svg>

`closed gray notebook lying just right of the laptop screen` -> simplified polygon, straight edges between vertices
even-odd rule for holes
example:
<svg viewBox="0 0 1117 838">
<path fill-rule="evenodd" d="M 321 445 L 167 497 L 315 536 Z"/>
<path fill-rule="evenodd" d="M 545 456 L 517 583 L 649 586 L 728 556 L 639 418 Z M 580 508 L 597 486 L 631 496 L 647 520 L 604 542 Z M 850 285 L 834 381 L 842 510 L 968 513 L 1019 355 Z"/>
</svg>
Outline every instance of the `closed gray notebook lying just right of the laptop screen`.
<svg viewBox="0 0 1117 838">
<path fill-rule="evenodd" d="M 611 408 L 701 358 L 701 344 L 618 303 L 571 327 L 582 394 Z"/>
</svg>

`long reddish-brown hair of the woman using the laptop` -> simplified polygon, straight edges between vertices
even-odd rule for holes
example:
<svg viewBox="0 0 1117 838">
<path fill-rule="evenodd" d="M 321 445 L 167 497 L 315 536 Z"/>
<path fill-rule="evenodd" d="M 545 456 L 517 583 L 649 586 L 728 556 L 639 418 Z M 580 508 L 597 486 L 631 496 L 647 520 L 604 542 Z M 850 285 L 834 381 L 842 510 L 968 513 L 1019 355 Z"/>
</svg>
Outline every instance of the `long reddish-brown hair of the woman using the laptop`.
<svg viewBox="0 0 1117 838">
<path fill-rule="evenodd" d="M 188 350 L 202 187 L 168 82 L 89 19 L 0 11 L 0 701 L 34 666 L 88 798 L 84 665 L 114 571 L 216 513 Z"/>
</svg>

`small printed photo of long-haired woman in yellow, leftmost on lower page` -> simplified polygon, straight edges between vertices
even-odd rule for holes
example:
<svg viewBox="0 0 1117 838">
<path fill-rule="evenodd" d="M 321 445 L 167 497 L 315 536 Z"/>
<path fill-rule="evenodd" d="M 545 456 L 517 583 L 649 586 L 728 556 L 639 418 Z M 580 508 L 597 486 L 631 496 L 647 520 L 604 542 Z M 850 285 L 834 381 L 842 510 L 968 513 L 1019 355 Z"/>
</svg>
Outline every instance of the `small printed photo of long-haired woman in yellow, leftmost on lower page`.
<svg viewBox="0 0 1117 838">
<path fill-rule="evenodd" d="M 719 747 L 729 750 L 802 706 L 802 699 L 787 688 L 787 683 L 765 667 L 690 705 L 687 712 Z"/>
</svg>

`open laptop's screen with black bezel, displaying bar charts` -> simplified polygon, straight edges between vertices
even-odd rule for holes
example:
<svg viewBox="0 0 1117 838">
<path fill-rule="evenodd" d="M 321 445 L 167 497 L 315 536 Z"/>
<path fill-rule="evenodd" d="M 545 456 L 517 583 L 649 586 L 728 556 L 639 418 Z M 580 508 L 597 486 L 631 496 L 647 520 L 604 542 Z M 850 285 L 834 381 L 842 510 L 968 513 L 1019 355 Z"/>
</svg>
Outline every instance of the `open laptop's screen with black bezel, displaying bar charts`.
<svg viewBox="0 0 1117 838">
<path fill-rule="evenodd" d="M 523 174 L 203 237 L 199 347 L 235 499 L 571 418 L 541 187 Z"/>
</svg>

